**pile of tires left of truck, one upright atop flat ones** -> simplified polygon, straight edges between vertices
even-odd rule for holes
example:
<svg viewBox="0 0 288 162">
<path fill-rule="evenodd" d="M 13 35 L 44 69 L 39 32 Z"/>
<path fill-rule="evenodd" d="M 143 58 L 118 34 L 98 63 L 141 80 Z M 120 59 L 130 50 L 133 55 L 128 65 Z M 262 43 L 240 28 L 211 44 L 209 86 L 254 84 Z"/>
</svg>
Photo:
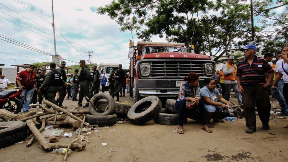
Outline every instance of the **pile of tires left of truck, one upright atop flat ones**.
<svg viewBox="0 0 288 162">
<path fill-rule="evenodd" d="M 105 99 L 106 101 L 99 101 Z M 89 103 L 89 112 L 86 115 L 86 122 L 90 125 L 98 125 L 98 127 L 112 126 L 117 122 L 118 116 L 125 116 L 130 109 L 129 105 L 115 103 L 114 99 L 104 93 L 94 95 L 90 101 L 99 110 L 97 111 L 91 103 Z"/>
</svg>

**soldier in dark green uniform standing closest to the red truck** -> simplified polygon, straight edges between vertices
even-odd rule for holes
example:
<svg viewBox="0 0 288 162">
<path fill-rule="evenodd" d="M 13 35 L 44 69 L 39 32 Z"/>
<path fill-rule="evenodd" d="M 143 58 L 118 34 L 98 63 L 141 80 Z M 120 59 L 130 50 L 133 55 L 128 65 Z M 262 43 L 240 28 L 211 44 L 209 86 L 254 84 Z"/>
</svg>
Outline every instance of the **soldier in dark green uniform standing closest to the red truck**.
<svg viewBox="0 0 288 162">
<path fill-rule="evenodd" d="M 114 96 L 117 97 L 116 101 L 119 101 L 119 92 L 122 91 L 123 80 L 125 78 L 125 72 L 122 69 L 122 65 L 119 64 L 118 68 L 119 70 L 117 70 L 114 75 L 114 78 L 116 79 L 114 84 L 115 92 L 112 94 L 113 98 Z"/>
</svg>

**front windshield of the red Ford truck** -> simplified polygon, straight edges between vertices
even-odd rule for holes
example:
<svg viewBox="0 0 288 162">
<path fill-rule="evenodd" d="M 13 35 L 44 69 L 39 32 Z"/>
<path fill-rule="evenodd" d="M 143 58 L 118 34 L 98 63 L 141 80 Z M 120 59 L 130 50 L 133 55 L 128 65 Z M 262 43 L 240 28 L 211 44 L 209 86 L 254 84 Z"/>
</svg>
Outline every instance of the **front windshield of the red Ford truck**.
<svg viewBox="0 0 288 162">
<path fill-rule="evenodd" d="M 163 46 L 150 46 L 145 47 L 144 54 L 147 53 L 159 53 L 159 52 L 185 52 L 182 47 L 163 47 Z"/>
</svg>

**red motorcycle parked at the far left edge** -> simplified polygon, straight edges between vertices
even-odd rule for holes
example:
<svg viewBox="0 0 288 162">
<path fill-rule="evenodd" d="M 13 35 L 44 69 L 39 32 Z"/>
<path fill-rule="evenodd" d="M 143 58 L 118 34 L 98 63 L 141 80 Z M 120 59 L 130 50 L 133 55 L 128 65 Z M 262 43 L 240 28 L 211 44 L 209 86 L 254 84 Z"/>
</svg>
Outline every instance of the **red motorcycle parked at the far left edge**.
<svg viewBox="0 0 288 162">
<path fill-rule="evenodd" d="M 9 112 L 18 114 L 24 104 L 24 100 L 20 96 L 22 88 L 9 89 L 0 92 L 0 109 L 6 109 Z"/>
</svg>

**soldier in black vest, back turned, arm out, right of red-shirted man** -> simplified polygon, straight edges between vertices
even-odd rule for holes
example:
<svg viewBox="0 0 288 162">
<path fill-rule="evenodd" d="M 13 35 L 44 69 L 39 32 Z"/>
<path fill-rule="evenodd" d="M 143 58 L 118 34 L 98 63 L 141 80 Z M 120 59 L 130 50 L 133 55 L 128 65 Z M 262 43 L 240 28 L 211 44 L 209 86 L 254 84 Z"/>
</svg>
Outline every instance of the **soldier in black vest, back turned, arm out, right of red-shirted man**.
<svg viewBox="0 0 288 162">
<path fill-rule="evenodd" d="M 38 93 L 42 91 L 47 91 L 47 100 L 56 104 L 55 96 L 59 91 L 59 87 L 63 86 L 63 80 L 61 74 L 56 70 L 56 64 L 54 62 L 50 63 L 50 69 L 45 77 L 43 84 L 40 86 Z M 50 107 L 48 107 L 50 108 Z"/>
</svg>

